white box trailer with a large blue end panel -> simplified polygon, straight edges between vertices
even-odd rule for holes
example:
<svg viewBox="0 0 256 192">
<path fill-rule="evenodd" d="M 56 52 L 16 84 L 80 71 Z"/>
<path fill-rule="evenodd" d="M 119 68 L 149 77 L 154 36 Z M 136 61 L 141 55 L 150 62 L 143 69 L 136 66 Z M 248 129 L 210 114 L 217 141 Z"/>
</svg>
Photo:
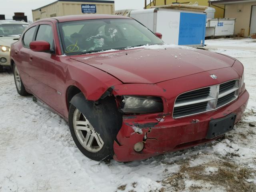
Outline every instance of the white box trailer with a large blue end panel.
<svg viewBox="0 0 256 192">
<path fill-rule="evenodd" d="M 154 33 L 162 33 L 162 40 L 165 43 L 204 46 L 206 27 L 204 12 L 151 8 L 132 10 L 127 16 L 141 22 Z"/>
</svg>

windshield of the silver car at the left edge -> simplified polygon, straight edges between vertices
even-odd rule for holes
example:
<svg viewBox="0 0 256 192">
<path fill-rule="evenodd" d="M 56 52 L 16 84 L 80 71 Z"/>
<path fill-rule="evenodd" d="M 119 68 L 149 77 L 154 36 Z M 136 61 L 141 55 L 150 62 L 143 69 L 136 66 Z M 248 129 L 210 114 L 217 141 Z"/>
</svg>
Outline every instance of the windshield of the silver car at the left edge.
<svg viewBox="0 0 256 192">
<path fill-rule="evenodd" d="M 0 24 L 0 36 L 21 35 L 27 26 L 26 24 Z"/>
</svg>

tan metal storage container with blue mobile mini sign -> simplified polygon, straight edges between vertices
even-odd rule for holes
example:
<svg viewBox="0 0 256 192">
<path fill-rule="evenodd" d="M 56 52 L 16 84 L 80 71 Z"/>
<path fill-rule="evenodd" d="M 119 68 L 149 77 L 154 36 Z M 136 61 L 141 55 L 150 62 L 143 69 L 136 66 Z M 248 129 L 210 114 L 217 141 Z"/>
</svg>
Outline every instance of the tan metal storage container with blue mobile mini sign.
<svg viewBox="0 0 256 192">
<path fill-rule="evenodd" d="M 80 15 L 114 14 L 114 1 L 108 0 L 57 0 L 46 6 L 32 10 L 33 20 L 43 18 Z"/>
</svg>

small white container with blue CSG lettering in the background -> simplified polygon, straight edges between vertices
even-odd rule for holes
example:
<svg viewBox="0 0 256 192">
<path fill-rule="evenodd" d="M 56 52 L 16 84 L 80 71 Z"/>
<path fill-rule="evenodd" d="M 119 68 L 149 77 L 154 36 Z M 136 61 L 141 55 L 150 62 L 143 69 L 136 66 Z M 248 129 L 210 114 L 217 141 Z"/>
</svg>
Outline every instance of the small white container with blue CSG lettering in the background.
<svg viewBox="0 0 256 192">
<path fill-rule="evenodd" d="M 234 35 L 236 19 L 209 19 L 206 25 L 206 36 Z"/>
</svg>

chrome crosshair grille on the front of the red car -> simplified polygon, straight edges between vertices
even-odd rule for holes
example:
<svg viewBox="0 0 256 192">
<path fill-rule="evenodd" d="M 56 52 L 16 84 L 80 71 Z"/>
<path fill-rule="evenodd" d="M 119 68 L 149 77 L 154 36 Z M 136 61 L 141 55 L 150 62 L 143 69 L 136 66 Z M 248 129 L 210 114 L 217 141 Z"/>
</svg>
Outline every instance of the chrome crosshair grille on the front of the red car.
<svg viewBox="0 0 256 192">
<path fill-rule="evenodd" d="M 180 118 L 220 108 L 238 97 L 239 80 L 183 93 L 176 98 L 173 117 Z"/>
</svg>

